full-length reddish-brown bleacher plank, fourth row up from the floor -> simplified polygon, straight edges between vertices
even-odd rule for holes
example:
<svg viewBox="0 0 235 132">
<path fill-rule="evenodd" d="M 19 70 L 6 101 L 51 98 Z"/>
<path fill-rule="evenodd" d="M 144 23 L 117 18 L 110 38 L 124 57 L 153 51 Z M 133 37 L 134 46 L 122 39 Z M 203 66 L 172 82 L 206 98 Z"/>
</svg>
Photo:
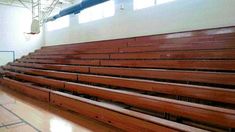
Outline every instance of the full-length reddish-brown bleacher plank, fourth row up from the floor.
<svg viewBox="0 0 235 132">
<path fill-rule="evenodd" d="M 186 71 L 186 70 L 162 70 L 162 69 L 136 69 L 118 67 L 95 67 L 95 66 L 71 66 L 36 63 L 10 63 L 12 66 L 49 69 L 57 71 L 101 74 L 108 76 L 124 76 L 145 79 L 165 79 L 175 81 L 203 82 L 211 84 L 235 85 L 235 73 Z"/>
</svg>

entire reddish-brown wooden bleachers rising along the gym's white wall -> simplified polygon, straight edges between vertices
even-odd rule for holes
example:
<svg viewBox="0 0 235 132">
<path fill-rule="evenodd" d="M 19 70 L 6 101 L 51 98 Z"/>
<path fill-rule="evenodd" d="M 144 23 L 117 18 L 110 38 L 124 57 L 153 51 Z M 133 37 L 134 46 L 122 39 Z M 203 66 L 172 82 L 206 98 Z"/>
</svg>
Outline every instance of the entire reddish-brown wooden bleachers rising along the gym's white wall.
<svg viewBox="0 0 235 132">
<path fill-rule="evenodd" d="M 235 27 L 42 47 L 1 84 L 126 131 L 234 131 Z"/>
</svg>

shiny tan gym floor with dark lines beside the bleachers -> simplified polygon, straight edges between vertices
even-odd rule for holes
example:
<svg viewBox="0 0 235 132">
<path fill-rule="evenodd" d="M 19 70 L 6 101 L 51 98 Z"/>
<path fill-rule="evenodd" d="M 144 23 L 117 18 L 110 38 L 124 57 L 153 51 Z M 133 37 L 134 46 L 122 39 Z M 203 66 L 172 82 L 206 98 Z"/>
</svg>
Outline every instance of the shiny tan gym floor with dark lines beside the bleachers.
<svg viewBox="0 0 235 132">
<path fill-rule="evenodd" d="M 120 131 L 0 86 L 0 132 Z"/>
</svg>

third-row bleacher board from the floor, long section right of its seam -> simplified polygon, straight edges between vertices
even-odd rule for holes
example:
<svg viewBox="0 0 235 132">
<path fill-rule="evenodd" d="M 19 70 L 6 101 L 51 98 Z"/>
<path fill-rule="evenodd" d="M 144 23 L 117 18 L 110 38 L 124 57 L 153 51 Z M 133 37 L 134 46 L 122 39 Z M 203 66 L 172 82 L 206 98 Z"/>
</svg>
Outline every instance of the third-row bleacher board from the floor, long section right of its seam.
<svg viewBox="0 0 235 132">
<path fill-rule="evenodd" d="M 235 104 L 235 90 L 224 88 L 181 85 L 176 83 L 164 83 L 140 79 L 127 79 L 86 74 L 79 74 L 78 81 Z"/>
</svg>

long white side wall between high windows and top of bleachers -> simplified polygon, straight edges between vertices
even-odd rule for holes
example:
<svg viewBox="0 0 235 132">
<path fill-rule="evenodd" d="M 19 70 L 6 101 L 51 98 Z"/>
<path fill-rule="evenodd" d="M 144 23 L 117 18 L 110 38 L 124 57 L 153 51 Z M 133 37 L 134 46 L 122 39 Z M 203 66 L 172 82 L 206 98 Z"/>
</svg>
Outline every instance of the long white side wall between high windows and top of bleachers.
<svg viewBox="0 0 235 132">
<path fill-rule="evenodd" d="M 175 0 L 137 11 L 132 0 L 115 2 L 113 17 L 79 24 L 77 15 L 71 15 L 68 28 L 45 29 L 45 45 L 235 26 L 235 0 Z M 119 9 L 121 3 L 125 10 Z"/>
</svg>

